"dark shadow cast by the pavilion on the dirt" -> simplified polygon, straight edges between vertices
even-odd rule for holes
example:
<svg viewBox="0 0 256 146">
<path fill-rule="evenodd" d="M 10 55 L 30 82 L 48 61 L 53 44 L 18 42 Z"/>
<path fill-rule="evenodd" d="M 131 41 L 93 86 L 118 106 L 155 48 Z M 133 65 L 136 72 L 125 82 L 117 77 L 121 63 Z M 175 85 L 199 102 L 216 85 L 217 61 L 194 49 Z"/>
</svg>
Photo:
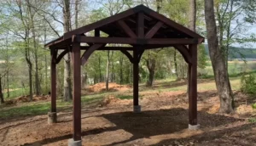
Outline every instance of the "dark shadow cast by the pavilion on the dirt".
<svg viewBox="0 0 256 146">
<path fill-rule="evenodd" d="M 143 111 L 141 114 L 134 114 L 132 112 L 120 112 L 96 116 L 107 119 L 115 126 L 88 129 L 87 131 L 82 132 L 82 136 L 93 136 L 102 132 L 114 132 L 119 129 L 122 129 L 125 132 L 129 132 L 132 135 L 131 138 L 127 138 L 126 140 L 113 143 L 108 142 L 105 145 L 125 144 L 139 138 L 149 138 L 157 135 L 180 132 L 184 129 L 187 129 L 188 127 L 188 110 L 184 110 L 182 108 L 170 110 L 148 110 Z M 236 121 L 241 121 L 240 119 L 224 115 L 211 115 L 207 114 L 206 112 L 198 112 L 198 117 L 202 128 L 213 128 L 216 126 L 224 126 Z M 72 138 L 72 133 L 62 135 L 61 137 L 52 137 L 54 136 L 34 143 L 26 143 L 25 145 L 55 143 L 61 140 Z M 200 137 L 195 136 L 195 138 Z M 97 142 L 97 139 L 94 139 L 94 141 Z M 170 141 L 172 141 L 172 139 Z M 161 143 L 169 143 L 169 141 Z M 161 143 L 159 145 L 162 145 Z"/>
</svg>

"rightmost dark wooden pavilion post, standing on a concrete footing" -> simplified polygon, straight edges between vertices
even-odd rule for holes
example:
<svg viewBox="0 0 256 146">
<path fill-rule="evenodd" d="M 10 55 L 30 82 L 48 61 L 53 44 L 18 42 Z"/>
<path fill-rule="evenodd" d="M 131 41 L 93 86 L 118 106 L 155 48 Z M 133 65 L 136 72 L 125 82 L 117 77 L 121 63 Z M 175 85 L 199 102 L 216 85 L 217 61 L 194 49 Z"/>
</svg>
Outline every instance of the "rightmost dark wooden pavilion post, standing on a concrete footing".
<svg viewBox="0 0 256 146">
<path fill-rule="evenodd" d="M 189 76 L 189 126 L 197 129 L 197 45 L 189 45 L 192 65 Z"/>
</svg>

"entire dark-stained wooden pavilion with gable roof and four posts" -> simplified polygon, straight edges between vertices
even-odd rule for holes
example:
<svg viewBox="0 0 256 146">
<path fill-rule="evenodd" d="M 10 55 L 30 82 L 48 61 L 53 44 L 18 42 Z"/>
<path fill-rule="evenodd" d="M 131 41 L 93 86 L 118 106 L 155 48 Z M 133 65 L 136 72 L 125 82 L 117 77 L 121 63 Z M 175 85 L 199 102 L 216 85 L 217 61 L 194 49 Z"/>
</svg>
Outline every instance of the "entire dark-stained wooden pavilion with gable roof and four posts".
<svg viewBox="0 0 256 146">
<path fill-rule="evenodd" d="M 94 31 L 94 36 L 86 36 L 89 31 Z M 108 36 L 101 36 L 101 31 Z M 204 42 L 203 36 L 143 5 L 65 33 L 45 44 L 51 54 L 49 123 L 56 122 L 56 65 L 65 54 L 72 53 L 73 64 L 73 139 L 69 145 L 81 145 L 81 65 L 86 63 L 90 54 L 96 50 L 118 50 L 130 59 L 133 64 L 134 111 L 139 112 L 138 65 L 143 52 L 146 49 L 173 47 L 183 55 L 189 66 L 189 126 L 197 126 L 197 45 L 201 42 Z M 125 47 L 113 47 L 111 44 L 125 44 Z M 57 55 L 58 50 L 63 51 Z M 81 50 L 85 50 L 82 55 Z M 133 55 L 128 51 L 132 51 Z"/>
</svg>

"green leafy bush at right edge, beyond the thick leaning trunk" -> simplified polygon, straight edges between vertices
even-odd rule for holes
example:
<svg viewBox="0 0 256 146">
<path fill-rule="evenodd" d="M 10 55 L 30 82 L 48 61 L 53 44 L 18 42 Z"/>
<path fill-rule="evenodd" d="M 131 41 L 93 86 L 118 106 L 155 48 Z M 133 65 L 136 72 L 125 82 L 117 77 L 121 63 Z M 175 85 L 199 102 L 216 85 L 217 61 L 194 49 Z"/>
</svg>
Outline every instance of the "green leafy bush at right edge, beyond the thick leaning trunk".
<svg viewBox="0 0 256 146">
<path fill-rule="evenodd" d="M 256 77 L 253 74 L 241 76 L 241 92 L 249 94 L 256 93 Z"/>
</svg>

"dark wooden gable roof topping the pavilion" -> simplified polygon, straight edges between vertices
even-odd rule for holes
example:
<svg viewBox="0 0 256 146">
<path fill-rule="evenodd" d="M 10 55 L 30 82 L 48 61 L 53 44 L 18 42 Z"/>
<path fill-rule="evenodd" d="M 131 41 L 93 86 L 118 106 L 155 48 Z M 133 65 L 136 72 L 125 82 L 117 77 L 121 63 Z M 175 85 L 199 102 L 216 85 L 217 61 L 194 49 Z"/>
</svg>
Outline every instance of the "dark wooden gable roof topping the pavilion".
<svg viewBox="0 0 256 146">
<path fill-rule="evenodd" d="M 73 35 L 82 35 L 88 31 L 93 31 L 95 29 L 107 33 L 109 36 L 119 36 L 125 37 L 127 34 L 125 31 L 119 28 L 118 21 L 124 20 L 125 24 L 129 25 L 131 31 L 137 31 L 137 14 L 144 14 L 144 29 L 145 32 L 149 31 L 156 23 L 162 22 L 159 31 L 153 36 L 154 38 L 202 38 L 203 36 L 198 35 L 194 31 L 190 31 L 183 25 L 177 24 L 175 21 L 166 18 L 166 16 L 155 12 L 154 10 L 145 7 L 144 5 L 138 5 L 137 7 L 130 8 L 115 14 L 103 20 L 98 20 L 90 25 L 84 25 L 76 30 L 68 31 L 60 38 L 55 41 L 49 42 L 46 46 L 49 46 L 55 42 L 61 42 L 67 39 L 71 39 Z"/>
</svg>

